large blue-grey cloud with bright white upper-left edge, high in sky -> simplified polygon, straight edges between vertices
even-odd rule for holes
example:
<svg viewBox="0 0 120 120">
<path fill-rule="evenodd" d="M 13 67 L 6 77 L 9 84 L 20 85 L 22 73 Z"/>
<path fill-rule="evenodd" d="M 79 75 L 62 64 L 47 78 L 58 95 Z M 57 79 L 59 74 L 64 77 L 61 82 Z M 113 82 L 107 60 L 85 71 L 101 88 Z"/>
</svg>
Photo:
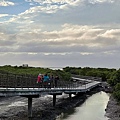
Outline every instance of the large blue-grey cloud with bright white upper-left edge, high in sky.
<svg viewBox="0 0 120 120">
<path fill-rule="evenodd" d="M 73 2 L 73 0 L 64 0 L 61 2 L 66 4 L 58 5 L 54 4 L 60 2 L 56 0 L 30 0 L 29 2 L 37 2 L 39 5 L 30 7 L 30 9 L 12 17 L 8 22 L 22 24 L 23 26 L 34 22 L 39 25 L 41 24 L 41 26 L 44 26 L 42 29 L 46 30 L 58 29 L 58 27 L 65 23 L 79 25 L 119 24 L 120 2 L 110 1 L 75 0 Z"/>
</svg>

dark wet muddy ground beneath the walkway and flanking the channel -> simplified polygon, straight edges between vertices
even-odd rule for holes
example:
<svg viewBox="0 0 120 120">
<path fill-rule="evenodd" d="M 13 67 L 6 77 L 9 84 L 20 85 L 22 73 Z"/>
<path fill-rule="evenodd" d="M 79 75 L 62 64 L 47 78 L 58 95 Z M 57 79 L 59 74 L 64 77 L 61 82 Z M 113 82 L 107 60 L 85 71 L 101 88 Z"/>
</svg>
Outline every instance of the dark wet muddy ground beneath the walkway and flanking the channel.
<svg viewBox="0 0 120 120">
<path fill-rule="evenodd" d="M 62 112 L 82 104 L 89 95 L 99 91 L 95 89 L 87 95 L 76 95 L 72 100 L 68 95 L 57 96 L 55 107 L 50 95 L 33 98 L 32 118 L 28 118 L 27 98 L 18 96 L 0 98 L 0 120 L 56 120 Z M 112 96 L 106 108 L 106 116 L 109 120 L 120 120 L 120 106 Z"/>
</svg>

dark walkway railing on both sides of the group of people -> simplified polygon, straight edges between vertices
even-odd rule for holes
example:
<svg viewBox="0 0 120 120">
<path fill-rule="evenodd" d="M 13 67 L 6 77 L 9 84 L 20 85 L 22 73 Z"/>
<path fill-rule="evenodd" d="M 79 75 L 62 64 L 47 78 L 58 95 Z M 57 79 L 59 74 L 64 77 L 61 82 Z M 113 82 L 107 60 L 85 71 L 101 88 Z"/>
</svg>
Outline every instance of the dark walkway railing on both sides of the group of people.
<svg viewBox="0 0 120 120">
<path fill-rule="evenodd" d="M 36 83 L 37 76 L 19 75 L 0 72 L 0 87 L 4 88 L 39 88 L 44 87 Z M 53 83 L 54 84 L 54 83 Z M 83 83 L 82 83 L 83 84 Z M 80 82 L 58 80 L 59 88 L 76 88 L 81 85 Z M 54 85 L 51 87 L 54 87 Z"/>
</svg>

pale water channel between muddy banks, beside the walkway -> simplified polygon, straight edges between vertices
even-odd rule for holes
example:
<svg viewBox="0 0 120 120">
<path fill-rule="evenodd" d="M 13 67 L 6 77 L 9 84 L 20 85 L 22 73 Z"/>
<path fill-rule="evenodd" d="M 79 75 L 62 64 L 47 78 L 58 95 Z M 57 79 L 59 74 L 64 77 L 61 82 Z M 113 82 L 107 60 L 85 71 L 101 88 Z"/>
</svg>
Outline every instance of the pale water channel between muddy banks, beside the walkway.
<svg viewBox="0 0 120 120">
<path fill-rule="evenodd" d="M 89 96 L 82 105 L 62 113 L 56 120 L 108 120 L 105 116 L 108 100 L 109 94 L 98 92 Z"/>
</svg>

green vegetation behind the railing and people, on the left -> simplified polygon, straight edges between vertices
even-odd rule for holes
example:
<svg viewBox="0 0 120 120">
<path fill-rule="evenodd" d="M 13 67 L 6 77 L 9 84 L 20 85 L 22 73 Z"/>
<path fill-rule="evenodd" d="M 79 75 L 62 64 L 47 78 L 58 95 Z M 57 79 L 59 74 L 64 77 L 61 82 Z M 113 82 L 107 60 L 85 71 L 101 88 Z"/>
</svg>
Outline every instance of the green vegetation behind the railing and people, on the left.
<svg viewBox="0 0 120 120">
<path fill-rule="evenodd" d="M 12 74 L 20 74 L 20 75 L 32 75 L 37 77 L 39 73 L 48 74 L 48 75 L 58 75 L 61 80 L 70 80 L 70 73 L 62 71 L 62 70 L 52 70 L 49 68 L 41 68 L 41 67 L 23 67 L 23 66 L 11 66 L 5 65 L 0 66 L 0 72 L 7 72 Z"/>
</svg>

